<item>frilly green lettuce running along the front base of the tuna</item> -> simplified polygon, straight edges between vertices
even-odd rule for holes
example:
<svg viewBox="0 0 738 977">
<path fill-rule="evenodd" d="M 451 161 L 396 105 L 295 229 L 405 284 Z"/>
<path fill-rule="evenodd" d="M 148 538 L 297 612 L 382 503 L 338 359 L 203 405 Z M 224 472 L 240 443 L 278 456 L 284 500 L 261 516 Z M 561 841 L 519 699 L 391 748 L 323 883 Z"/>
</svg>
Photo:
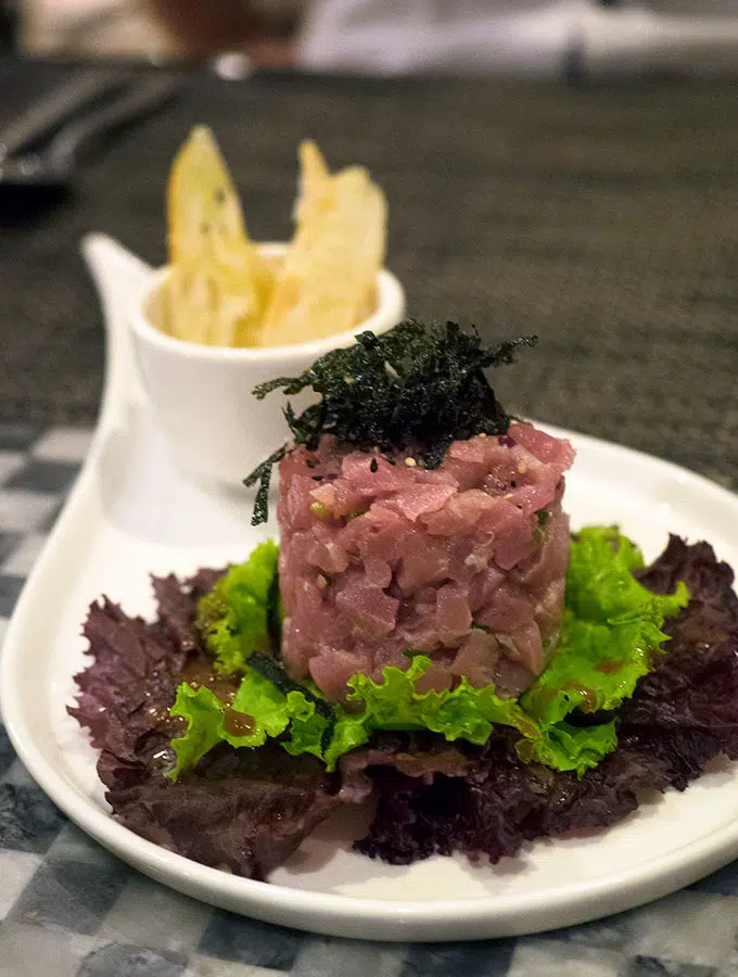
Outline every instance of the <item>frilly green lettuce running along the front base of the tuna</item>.
<svg viewBox="0 0 738 977">
<path fill-rule="evenodd" d="M 184 736 L 173 740 L 177 765 L 169 776 L 176 778 L 193 767 L 218 743 L 258 747 L 267 736 L 282 734 L 282 746 L 289 753 L 310 753 L 322 760 L 329 771 L 335 770 L 344 753 L 369 743 L 371 734 L 378 731 L 430 729 L 448 740 L 466 739 L 481 746 L 489 738 L 493 724 L 499 723 L 521 733 L 524 759 L 580 772 L 596 765 L 614 748 L 612 723 L 607 731 L 567 723 L 543 727 L 513 699 L 498 698 L 489 686 L 474 688 L 462 681 L 453 690 L 418 693 L 416 682 L 431 664 L 430 658 L 417 655 L 406 671 L 393 665 L 383 669 L 382 682 L 355 675 L 349 681 L 349 699 L 362 705 L 358 713 L 333 703 L 327 710 L 329 715 L 323 715 L 311 699 L 298 691 L 284 694 L 255 669 L 246 669 L 231 707 L 209 689 L 181 685 L 171 714 L 184 716 L 189 727 Z M 250 716 L 253 732 L 230 733 L 231 711 Z"/>
</svg>

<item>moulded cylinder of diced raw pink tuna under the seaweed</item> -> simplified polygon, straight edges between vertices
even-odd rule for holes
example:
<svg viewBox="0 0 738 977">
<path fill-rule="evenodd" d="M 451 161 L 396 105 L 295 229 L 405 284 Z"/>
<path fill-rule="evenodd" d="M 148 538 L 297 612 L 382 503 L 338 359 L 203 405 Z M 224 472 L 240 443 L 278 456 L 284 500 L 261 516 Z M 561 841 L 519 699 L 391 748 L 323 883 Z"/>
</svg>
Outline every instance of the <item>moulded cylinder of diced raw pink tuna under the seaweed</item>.
<svg viewBox="0 0 738 977">
<path fill-rule="evenodd" d="M 433 659 L 427 688 L 463 675 L 517 695 L 556 646 L 569 563 L 563 472 L 574 451 L 531 424 L 454 442 L 427 470 L 339 448 L 280 466 L 282 655 L 331 699 L 357 671 Z"/>
</svg>

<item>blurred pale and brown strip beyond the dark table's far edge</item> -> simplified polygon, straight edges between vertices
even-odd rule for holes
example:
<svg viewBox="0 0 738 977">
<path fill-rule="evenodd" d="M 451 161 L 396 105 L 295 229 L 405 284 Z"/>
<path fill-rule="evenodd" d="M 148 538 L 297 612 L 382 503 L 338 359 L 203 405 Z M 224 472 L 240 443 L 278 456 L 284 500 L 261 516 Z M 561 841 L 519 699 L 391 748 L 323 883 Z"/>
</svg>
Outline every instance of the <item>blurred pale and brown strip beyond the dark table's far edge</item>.
<svg viewBox="0 0 738 977">
<path fill-rule="evenodd" d="M 5 48 L 249 67 L 549 76 L 738 69 L 738 0 L 0 0 Z"/>
</svg>

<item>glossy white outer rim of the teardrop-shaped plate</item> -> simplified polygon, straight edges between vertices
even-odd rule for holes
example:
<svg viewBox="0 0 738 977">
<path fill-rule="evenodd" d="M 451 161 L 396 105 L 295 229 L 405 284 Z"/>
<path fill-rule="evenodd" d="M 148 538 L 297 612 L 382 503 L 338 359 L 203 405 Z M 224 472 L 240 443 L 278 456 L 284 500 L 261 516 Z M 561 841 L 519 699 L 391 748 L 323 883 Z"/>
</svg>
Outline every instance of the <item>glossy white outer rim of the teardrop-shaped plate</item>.
<svg viewBox="0 0 738 977">
<path fill-rule="evenodd" d="M 557 922 L 550 922 L 550 890 L 506 897 L 502 909 L 496 908 L 491 922 L 489 897 L 470 897 L 435 902 L 393 902 L 383 899 L 331 894 L 279 886 L 229 875 L 165 851 L 140 838 L 89 799 L 71 787 L 46 758 L 24 716 L 22 694 L 15 682 L 22 656 L 21 635 L 26 617 L 33 613 L 42 593 L 58 540 L 64 537 L 75 519 L 76 509 L 90 491 L 99 455 L 118 408 L 120 383 L 113 382 L 118 369 L 117 357 L 124 355 L 120 337 L 109 327 L 106 380 L 102 407 L 93 440 L 53 532 L 39 556 L 17 601 L 10 622 L 0 662 L 0 696 L 4 723 L 11 741 L 31 776 L 49 797 L 82 830 L 109 848 L 124 861 L 160 881 L 195 898 L 212 902 L 255 918 L 281 923 L 314 932 L 386 941 L 443 941 L 514 936 L 574 925 L 591 918 L 634 908 L 667 894 L 725 865 L 738 855 L 738 823 L 710 835 L 698 837 L 671 853 L 641 862 L 635 870 L 611 873 L 596 881 L 568 884 L 556 890 Z M 571 434 L 546 426 L 555 434 Z M 709 502 L 735 507 L 738 498 L 701 475 L 672 462 L 588 435 L 576 434 L 576 441 L 591 452 L 613 453 L 623 464 L 637 464 L 658 469 L 660 474 L 699 488 Z M 598 908 L 602 900 L 605 909 Z M 249 910 L 243 910 L 244 902 Z M 378 935 L 377 926 L 383 934 Z M 462 932 L 459 936 L 459 932 Z M 367 937 L 364 937 L 367 938 Z"/>
</svg>

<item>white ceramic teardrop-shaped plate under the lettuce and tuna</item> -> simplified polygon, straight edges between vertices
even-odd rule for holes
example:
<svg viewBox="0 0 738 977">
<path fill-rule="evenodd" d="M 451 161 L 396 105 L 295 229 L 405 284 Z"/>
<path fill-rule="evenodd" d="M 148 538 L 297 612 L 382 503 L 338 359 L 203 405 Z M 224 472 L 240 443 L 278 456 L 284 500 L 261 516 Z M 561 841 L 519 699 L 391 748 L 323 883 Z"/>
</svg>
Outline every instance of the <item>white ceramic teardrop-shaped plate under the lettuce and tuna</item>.
<svg viewBox="0 0 738 977">
<path fill-rule="evenodd" d="M 738 857 L 738 767 L 714 769 L 596 837 L 538 842 L 495 868 L 433 858 L 392 867 L 351 851 L 352 825 L 308 839 L 271 884 L 206 868 L 116 824 L 96 754 L 65 706 L 82 665 L 86 610 L 107 593 L 149 613 L 149 573 L 242 559 L 269 532 L 250 498 L 192 486 L 171 467 L 148 413 L 122 316 L 145 266 L 93 238 L 87 257 L 107 321 L 104 406 L 69 503 L 23 593 L 3 652 L 5 722 L 22 760 L 84 830 L 190 896 L 316 932 L 377 940 L 463 940 L 573 925 L 664 896 Z M 712 541 L 738 567 L 738 498 L 654 458 L 571 435 L 578 458 L 567 503 L 575 524 L 619 522 L 656 556 L 667 532 Z"/>
</svg>

